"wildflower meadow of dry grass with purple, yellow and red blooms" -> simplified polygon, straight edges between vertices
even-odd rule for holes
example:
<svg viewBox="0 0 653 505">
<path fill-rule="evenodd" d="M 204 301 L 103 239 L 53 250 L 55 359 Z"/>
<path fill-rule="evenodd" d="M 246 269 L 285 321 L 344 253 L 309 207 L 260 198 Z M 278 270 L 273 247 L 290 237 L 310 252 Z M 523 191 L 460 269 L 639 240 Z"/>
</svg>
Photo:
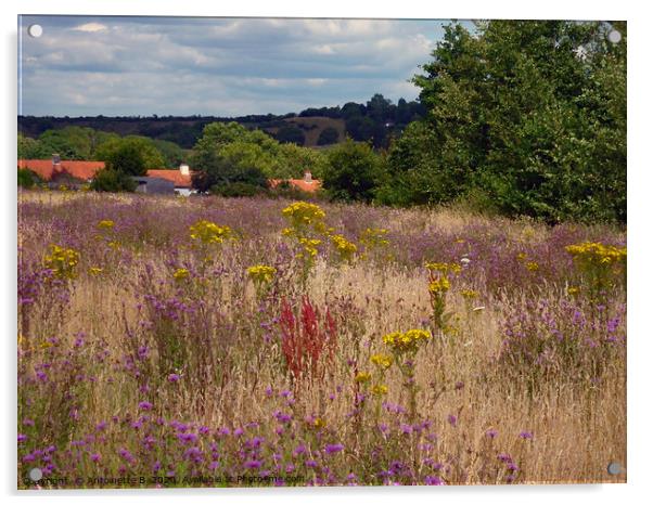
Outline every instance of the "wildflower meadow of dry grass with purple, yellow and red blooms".
<svg viewBox="0 0 653 505">
<path fill-rule="evenodd" d="M 18 488 L 623 482 L 625 280 L 609 225 L 23 191 Z"/>
</svg>

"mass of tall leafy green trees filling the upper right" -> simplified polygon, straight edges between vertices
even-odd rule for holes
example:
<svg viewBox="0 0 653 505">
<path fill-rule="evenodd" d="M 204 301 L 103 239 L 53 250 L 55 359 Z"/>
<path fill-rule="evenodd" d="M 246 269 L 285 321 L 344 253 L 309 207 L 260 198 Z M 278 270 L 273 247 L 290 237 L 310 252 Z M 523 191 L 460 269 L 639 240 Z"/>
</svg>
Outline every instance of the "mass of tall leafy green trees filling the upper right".
<svg viewBox="0 0 653 505">
<path fill-rule="evenodd" d="M 453 24 L 413 81 L 425 119 L 389 150 L 386 203 L 491 202 L 558 222 L 626 220 L 626 30 Z"/>
</svg>

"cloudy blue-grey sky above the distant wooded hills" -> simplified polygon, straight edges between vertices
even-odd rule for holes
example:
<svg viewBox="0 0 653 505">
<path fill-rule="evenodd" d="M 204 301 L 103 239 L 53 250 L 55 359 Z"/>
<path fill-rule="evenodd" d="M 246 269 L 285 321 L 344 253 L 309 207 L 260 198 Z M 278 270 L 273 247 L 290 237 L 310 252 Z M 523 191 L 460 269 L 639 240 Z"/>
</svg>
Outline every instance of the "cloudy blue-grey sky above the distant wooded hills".
<svg viewBox="0 0 653 505">
<path fill-rule="evenodd" d="M 414 100 L 437 20 L 21 16 L 18 114 L 298 113 Z M 28 35 L 38 24 L 42 35 Z"/>
</svg>

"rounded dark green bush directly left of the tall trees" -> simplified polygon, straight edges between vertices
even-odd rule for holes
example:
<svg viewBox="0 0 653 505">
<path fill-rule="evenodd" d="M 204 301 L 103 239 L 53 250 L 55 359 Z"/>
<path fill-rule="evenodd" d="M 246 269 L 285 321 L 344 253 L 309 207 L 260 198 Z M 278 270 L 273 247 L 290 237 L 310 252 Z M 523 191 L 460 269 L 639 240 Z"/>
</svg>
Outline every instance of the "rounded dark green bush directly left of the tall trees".
<svg viewBox="0 0 653 505">
<path fill-rule="evenodd" d="M 332 148 L 322 187 L 334 199 L 372 202 L 384 177 L 384 159 L 367 143 L 347 139 Z"/>
</svg>

